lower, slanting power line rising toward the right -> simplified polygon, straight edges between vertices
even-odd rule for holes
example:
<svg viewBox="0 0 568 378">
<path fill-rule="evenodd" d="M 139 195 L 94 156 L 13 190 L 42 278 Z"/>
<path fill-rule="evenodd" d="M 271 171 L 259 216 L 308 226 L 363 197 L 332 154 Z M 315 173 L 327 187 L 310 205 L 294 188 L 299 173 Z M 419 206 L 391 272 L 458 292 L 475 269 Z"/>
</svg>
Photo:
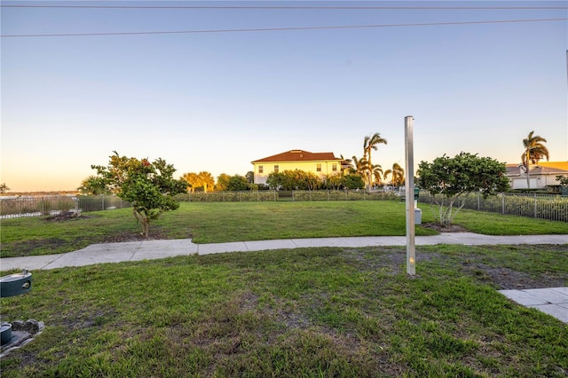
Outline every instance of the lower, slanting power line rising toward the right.
<svg viewBox="0 0 568 378">
<path fill-rule="evenodd" d="M 548 22 L 565 21 L 565 19 L 533 19 L 533 20 L 488 20 L 488 21 L 455 21 L 455 22 L 424 22 L 413 24 L 381 24 L 381 25 L 351 25 L 327 27 L 294 27 L 294 28 L 243 28 L 243 29 L 210 29 L 210 30 L 177 30 L 177 31 L 143 31 L 143 32 L 108 32 L 108 33 L 62 33 L 62 34 L 28 34 L 28 35 L 0 35 L 3 38 L 46 37 L 46 36 L 96 36 L 96 35 L 165 35 L 165 34 L 206 34 L 206 33 L 249 33 L 266 31 L 292 31 L 292 30 L 323 30 L 323 29 L 355 29 L 355 28 L 407 28 L 432 27 L 446 25 L 477 25 L 477 24 L 503 24 L 517 22 Z"/>
</svg>

